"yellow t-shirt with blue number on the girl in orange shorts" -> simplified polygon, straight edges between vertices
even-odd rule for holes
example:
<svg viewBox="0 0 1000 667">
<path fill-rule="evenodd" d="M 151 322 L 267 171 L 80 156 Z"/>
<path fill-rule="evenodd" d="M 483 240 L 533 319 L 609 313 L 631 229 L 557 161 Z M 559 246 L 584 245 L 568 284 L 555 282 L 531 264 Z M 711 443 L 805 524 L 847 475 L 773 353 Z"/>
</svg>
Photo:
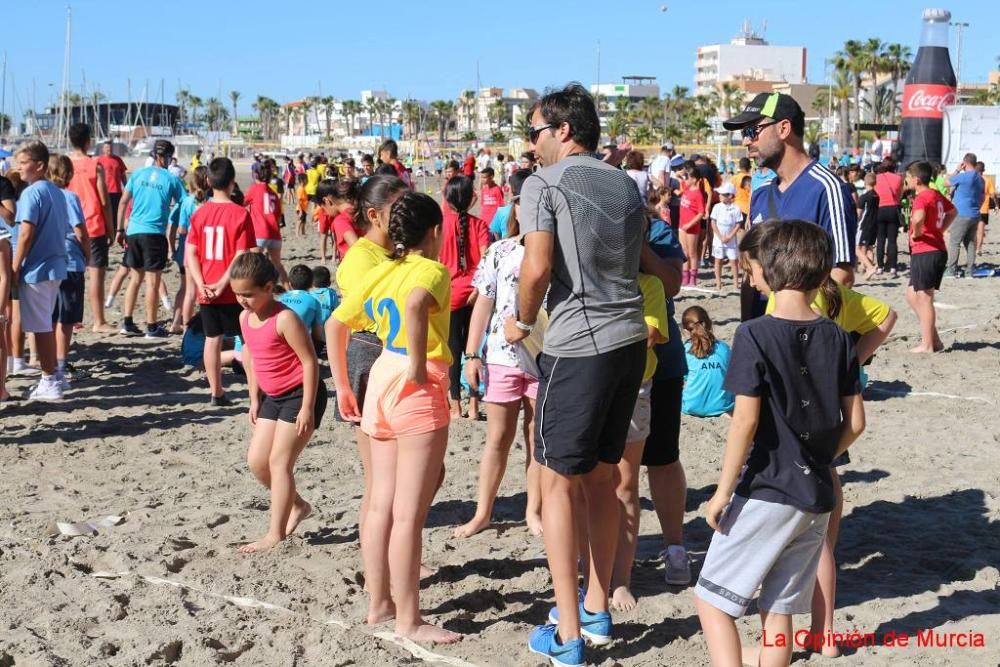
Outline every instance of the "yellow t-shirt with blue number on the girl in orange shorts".
<svg viewBox="0 0 1000 667">
<path fill-rule="evenodd" d="M 351 250 L 355 246 L 357 243 Z M 348 292 L 333 316 L 355 331 L 374 323 L 375 335 L 382 339 L 385 349 L 406 354 L 406 300 L 418 287 L 430 292 L 435 302 L 428 317 L 427 360 L 450 364 L 451 278 L 440 262 L 420 255 L 382 262 L 368 272 L 359 288 Z"/>
</svg>

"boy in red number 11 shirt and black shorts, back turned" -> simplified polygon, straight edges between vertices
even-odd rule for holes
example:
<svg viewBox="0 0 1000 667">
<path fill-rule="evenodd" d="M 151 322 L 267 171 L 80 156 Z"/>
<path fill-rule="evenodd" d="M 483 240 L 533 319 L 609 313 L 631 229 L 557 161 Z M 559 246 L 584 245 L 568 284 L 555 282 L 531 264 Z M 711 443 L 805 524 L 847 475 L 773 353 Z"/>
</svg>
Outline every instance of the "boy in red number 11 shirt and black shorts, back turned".
<svg viewBox="0 0 1000 667">
<path fill-rule="evenodd" d="M 229 286 L 229 267 L 237 256 L 256 251 L 253 223 L 246 208 L 230 199 L 236 169 L 229 158 L 208 165 L 212 198 L 191 216 L 184 264 L 194 281 L 205 329 L 205 374 L 214 407 L 229 405 L 222 391 L 222 336 L 240 335 L 240 308 Z M 265 186 L 266 187 L 266 186 Z"/>
</svg>

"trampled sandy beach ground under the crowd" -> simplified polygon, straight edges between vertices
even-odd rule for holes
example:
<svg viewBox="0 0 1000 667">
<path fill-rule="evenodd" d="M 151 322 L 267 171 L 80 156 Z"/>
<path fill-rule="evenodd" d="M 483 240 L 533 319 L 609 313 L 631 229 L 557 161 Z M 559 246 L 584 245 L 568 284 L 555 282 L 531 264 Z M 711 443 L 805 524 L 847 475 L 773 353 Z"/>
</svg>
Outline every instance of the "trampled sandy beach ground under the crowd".
<svg viewBox="0 0 1000 667">
<path fill-rule="evenodd" d="M 249 185 L 245 173 L 240 183 Z M 998 226 L 994 219 L 980 260 L 994 266 Z M 315 265 L 315 232 L 295 238 L 292 226 L 285 231 L 286 264 Z M 120 252 L 113 266 L 119 261 Z M 173 294 L 176 267 L 165 275 Z M 714 283 L 707 276 L 705 287 Z M 945 282 L 938 326 L 946 351 L 933 356 L 909 352 L 917 321 L 905 285 L 905 274 L 858 285 L 890 302 L 899 322 L 869 368 L 868 429 L 841 469 L 837 628 L 871 633 L 876 645 L 849 648 L 835 664 L 997 664 L 1000 278 Z M 120 323 L 121 302 L 111 322 Z M 738 294 L 685 290 L 678 315 L 695 303 L 731 340 Z M 270 552 L 237 552 L 263 534 L 269 509 L 245 463 L 246 384 L 227 371 L 236 405 L 209 407 L 203 374 L 182 366 L 180 340 L 80 333 L 78 373 L 64 402 L 0 412 L 0 667 L 541 664 L 526 641 L 544 622 L 552 591 L 541 538 L 523 522 L 520 436 L 496 523 L 456 539 L 452 530 L 475 507 L 486 425 L 452 424 L 447 478 L 424 532 L 424 559 L 437 572 L 424 580 L 421 603 L 436 622 L 467 636 L 453 646 L 416 647 L 394 638 L 391 624 L 363 623 L 361 465 L 332 402 L 296 473 L 315 514 Z M 9 382 L 13 393 L 28 385 Z M 727 428 L 725 418 L 683 420 L 685 540 L 696 575 L 710 539 L 700 510 L 714 489 Z M 615 642 L 588 650 L 588 658 L 606 667 L 707 664 L 693 593 L 663 582 L 645 479 L 642 492 L 633 580 L 639 606 L 615 613 Z M 98 526 L 96 535 L 53 536 L 56 522 L 108 516 L 121 520 Z M 808 630 L 807 617 L 795 620 Z M 757 637 L 755 616 L 739 624 L 746 641 Z M 907 646 L 886 645 L 904 634 Z M 950 647 L 919 645 L 949 637 Z M 977 637 L 983 647 L 954 643 Z M 801 649 L 795 661 L 834 664 Z"/>
</svg>

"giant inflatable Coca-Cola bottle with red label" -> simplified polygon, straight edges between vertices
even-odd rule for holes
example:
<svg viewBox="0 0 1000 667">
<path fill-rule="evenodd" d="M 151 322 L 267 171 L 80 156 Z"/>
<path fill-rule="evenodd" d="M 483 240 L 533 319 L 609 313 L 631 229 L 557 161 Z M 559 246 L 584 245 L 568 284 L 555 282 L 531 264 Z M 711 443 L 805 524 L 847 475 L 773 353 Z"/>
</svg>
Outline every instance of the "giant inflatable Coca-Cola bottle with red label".
<svg viewBox="0 0 1000 667">
<path fill-rule="evenodd" d="M 948 55 L 947 9 L 925 9 L 920 49 L 903 87 L 899 166 L 916 160 L 941 163 L 944 108 L 955 104 L 957 81 Z"/>
</svg>

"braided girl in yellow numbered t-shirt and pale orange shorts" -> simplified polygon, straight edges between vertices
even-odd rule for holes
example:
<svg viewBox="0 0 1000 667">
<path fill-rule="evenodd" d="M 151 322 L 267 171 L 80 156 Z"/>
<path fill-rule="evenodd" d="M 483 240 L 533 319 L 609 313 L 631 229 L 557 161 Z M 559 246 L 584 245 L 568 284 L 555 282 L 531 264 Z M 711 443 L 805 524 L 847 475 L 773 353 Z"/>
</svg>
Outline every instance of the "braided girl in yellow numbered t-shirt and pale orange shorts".
<svg viewBox="0 0 1000 667">
<path fill-rule="evenodd" d="M 461 635 L 420 616 L 421 529 L 448 443 L 448 326 L 451 279 L 436 261 L 441 209 L 426 194 L 406 192 L 389 213 L 390 261 L 352 288 L 333 312 L 332 373 L 346 419 L 371 438 L 372 486 L 361 535 L 368 622 L 395 618 L 397 634 L 451 643 Z M 371 369 L 364 410 L 347 375 L 348 329 L 375 326 L 384 349 Z M 390 549 L 390 545 L 392 548 Z"/>
</svg>

